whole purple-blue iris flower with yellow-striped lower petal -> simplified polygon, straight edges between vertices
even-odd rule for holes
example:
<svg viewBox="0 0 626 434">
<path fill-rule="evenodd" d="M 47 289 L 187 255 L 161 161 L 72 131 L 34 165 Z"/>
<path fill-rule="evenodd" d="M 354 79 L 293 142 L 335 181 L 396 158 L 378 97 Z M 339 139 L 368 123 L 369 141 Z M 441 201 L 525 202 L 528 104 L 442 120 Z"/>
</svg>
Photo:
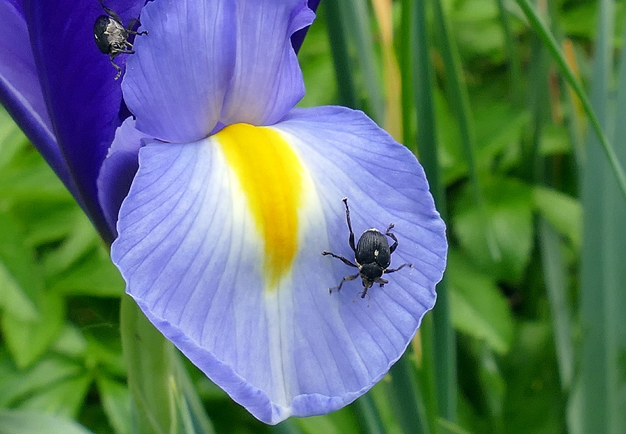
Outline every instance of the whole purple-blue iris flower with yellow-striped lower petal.
<svg viewBox="0 0 626 434">
<path fill-rule="evenodd" d="M 290 38 L 314 19 L 307 1 L 111 1 L 122 19 L 141 12 L 148 32 L 134 40 L 121 89 L 95 44 L 80 47 L 97 70 L 59 54 L 73 50 L 63 38 L 77 35 L 67 31 L 76 23 L 61 31 L 58 20 L 95 20 L 97 8 L 42 3 L 24 15 L 15 0 L 0 0 L 30 32 L 37 68 L 29 64 L 26 79 L 42 83 L 35 97 L 22 86 L 12 103 L 5 82 L 21 78 L 0 70 L 3 99 L 9 109 L 20 95 L 22 107 L 30 102 L 12 113 L 99 230 L 115 237 L 111 257 L 147 318 L 268 424 L 337 410 L 367 392 L 435 303 L 445 227 L 415 156 L 364 113 L 294 108 L 304 84 Z M 49 44 L 55 32 L 61 40 Z M 0 49 L 4 56 L 1 40 Z M 105 84 L 86 93 L 95 80 Z M 102 113 L 86 119 L 81 111 L 94 107 Z M 33 113 L 45 116 L 37 124 Z M 79 155 L 94 140 L 76 139 L 90 134 L 77 132 L 83 125 L 102 140 L 87 161 Z M 346 197 L 355 236 L 394 223 L 390 267 L 414 265 L 364 300 L 359 280 L 329 294 L 355 268 L 321 255 L 354 258 Z"/>
</svg>

